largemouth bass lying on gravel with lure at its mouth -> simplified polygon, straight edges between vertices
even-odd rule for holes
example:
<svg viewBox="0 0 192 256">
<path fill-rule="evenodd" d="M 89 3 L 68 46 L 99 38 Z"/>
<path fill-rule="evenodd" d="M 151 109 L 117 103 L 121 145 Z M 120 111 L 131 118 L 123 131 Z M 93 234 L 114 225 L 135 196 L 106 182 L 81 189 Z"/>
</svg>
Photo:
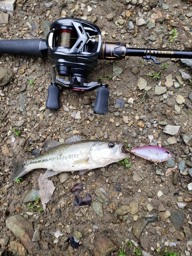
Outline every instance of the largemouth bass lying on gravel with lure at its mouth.
<svg viewBox="0 0 192 256">
<path fill-rule="evenodd" d="M 122 152 L 123 143 L 102 140 L 82 140 L 79 135 L 66 143 L 48 139 L 44 143 L 45 155 L 28 160 L 13 160 L 13 173 L 10 181 L 18 179 L 33 169 L 46 168 L 45 178 L 62 172 L 81 174 L 118 162 L 129 155 Z"/>
</svg>

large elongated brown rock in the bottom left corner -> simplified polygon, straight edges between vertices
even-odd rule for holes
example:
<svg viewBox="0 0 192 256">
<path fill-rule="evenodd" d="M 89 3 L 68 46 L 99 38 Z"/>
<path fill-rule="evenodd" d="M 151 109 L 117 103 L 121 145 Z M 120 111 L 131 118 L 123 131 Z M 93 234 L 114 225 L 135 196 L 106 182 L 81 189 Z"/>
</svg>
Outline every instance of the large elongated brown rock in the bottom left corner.
<svg viewBox="0 0 192 256">
<path fill-rule="evenodd" d="M 37 254 L 38 245 L 32 242 L 33 225 L 21 215 L 14 215 L 6 220 L 6 226 L 20 239 L 22 244 L 31 254 Z"/>
</svg>

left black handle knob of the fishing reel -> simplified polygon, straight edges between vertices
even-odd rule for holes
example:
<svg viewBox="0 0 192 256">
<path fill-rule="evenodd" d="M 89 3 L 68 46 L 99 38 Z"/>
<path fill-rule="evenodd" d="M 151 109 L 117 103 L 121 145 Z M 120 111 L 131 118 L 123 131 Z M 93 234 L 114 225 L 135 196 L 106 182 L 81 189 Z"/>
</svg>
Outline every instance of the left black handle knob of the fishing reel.
<svg viewBox="0 0 192 256">
<path fill-rule="evenodd" d="M 51 110 L 58 110 L 59 104 L 59 87 L 55 83 L 52 83 L 48 88 L 48 97 L 46 101 L 46 108 Z"/>
</svg>

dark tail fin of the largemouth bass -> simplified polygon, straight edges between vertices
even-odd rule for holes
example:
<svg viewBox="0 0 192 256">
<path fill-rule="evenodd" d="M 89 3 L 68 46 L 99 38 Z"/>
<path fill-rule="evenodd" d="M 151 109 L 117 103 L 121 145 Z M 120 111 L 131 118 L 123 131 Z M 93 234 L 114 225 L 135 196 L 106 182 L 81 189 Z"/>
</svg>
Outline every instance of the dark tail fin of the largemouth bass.
<svg viewBox="0 0 192 256">
<path fill-rule="evenodd" d="M 28 173 L 26 169 L 25 160 L 19 160 L 19 161 L 13 160 L 12 165 L 13 165 L 13 172 L 11 174 L 10 181 L 14 181 Z"/>
</svg>

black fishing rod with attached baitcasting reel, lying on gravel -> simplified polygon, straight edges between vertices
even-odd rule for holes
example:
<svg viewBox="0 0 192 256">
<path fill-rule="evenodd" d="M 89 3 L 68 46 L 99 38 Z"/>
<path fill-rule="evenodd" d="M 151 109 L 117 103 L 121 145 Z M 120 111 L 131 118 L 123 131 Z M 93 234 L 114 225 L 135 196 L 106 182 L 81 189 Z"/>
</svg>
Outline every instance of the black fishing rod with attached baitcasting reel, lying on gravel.
<svg viewBox="0 0 192 256">
<path fill-rule="evenodd" d="M 48 58 L 54 62 L 61 77 L 48 89 L 46 107 L 59 109 L 59 87 L 72 91 L 97 89 L 94 112 L 108 113 L 108 84 L 87 82 L 88 75 L 97 67 L 97 60 L 122 60 L 125 56 L 140 56 L 146 61 L 156 57 L 192 59 L 191 51 L 126 48 L 121 42 L 101 40 L 97 25 L 79 18 L 62 18 L 53 22 L 46 39 L 0 40 L 0 54 Z"/>
</svg>

